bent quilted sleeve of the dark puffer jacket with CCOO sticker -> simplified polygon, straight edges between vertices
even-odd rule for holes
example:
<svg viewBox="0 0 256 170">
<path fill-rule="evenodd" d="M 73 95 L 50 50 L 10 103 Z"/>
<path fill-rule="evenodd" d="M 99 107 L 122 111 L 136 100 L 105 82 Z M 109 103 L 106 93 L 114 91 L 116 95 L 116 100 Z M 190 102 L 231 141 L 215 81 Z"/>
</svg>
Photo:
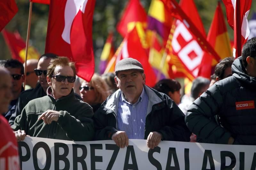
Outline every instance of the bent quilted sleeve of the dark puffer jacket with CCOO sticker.
<svg viewBox="0 0 256 170">
<path fill-rule="evenodd" d="M 197 98 L 188 108 L 185 117 L 188 129 L 203 140 L 215 144 L 227 144 L 231 134 L 210 117 L 218 114 L 223 96 L 215 84 Z"/>
</svg>

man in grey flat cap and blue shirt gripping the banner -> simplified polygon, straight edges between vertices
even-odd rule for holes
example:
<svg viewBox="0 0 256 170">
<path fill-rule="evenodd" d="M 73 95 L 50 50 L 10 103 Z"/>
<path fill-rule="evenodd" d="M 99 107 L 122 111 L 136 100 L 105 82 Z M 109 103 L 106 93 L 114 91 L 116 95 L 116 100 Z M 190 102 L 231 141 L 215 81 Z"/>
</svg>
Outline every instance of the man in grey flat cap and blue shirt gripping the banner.
<svg viewBox="0 0 256 170">
<path fill-rule="evenodd" d="M 151 149 L 161 140 L 190 140 L 184 114 L 170 97 L 145 85 L 144 69 L 138 60 L 120 60 L 115 74 L 119 89 L 93 116 L 96 140 L 112 139 L 124 148 L 128 139 L 147 139 Z"/>
</svg>

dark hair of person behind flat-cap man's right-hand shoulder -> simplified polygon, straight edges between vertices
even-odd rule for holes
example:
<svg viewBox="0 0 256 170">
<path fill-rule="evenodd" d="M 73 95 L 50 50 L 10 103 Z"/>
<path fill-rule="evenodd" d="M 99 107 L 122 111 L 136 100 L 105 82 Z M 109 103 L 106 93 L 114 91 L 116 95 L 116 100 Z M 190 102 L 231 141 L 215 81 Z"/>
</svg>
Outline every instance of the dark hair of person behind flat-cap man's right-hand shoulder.
<svg viewBox="0 0 256 170">
<path fill-rule="evenodd" d="M 153 87 L 153 89 L 156 89 L 157 91 L 162 92 L 166 95 L 168 95 L 169 91 L 173 93 L 180 90 L 180 88 L 180 83 L 174 79 L 162 79 L 156 83 L 155 87 Z"/>
</svg>

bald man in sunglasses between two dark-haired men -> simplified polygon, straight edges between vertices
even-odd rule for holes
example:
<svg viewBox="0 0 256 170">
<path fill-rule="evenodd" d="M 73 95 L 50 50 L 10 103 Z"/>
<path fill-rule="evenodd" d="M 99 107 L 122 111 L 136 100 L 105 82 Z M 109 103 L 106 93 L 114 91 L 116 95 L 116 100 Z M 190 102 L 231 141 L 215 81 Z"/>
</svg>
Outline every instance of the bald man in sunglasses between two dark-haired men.
<svg viewBox="0 0 256 170">
<path fill-rule="evenodd" d="M 27 72 L 26 72 L 26 86 L 25 90 L 35 89 L 38 83 L 38 76 L 35 73 L 35 69 L 37 68 L 37 59 L 29 59 L 27 60 Z M 25 62 L 23 63 L 25 68 Z"/>
</svg>

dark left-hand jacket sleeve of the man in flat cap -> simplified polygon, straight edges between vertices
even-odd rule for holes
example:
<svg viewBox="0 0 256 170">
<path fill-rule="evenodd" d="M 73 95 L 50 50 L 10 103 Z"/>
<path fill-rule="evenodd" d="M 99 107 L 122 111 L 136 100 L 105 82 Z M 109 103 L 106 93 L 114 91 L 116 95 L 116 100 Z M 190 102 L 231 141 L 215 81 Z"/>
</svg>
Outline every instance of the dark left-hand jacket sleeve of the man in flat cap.
<svg viewBox="0 0 256 170">
<path fill-rule="evenodd" d="M 100 107 L 93 115 L 95 140 L 111 140 L 116 130 L 116 118 L 113 114 L 106 114 L 105 110 Z"/>
</svg>

